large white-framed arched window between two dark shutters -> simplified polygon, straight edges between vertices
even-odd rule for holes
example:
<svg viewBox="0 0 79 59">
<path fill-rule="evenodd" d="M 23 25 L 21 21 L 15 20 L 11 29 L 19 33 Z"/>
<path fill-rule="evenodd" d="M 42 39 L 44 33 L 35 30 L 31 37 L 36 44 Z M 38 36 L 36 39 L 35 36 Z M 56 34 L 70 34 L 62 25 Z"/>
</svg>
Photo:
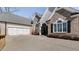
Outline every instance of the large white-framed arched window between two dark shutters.
<svg viewBox="0 0 79 59">
<path fill-rule="evenodd" d="M 67 21 L 57 20 L 53 23 L 53 32 L 67 32 Z"/>
</svg>

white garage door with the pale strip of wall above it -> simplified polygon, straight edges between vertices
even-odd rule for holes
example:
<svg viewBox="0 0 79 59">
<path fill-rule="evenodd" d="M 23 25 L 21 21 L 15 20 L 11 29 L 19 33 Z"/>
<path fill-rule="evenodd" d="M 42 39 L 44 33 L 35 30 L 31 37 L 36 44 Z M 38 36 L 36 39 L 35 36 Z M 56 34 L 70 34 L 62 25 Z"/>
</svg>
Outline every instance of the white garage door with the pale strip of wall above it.
<svg viewBox="0 0 79 59">
<path fill-rule="evenodd" d="M 30 28 L 25 26 L 8 26 L 7 27 L 8 35 L 29 35 Z"/>
</svg>

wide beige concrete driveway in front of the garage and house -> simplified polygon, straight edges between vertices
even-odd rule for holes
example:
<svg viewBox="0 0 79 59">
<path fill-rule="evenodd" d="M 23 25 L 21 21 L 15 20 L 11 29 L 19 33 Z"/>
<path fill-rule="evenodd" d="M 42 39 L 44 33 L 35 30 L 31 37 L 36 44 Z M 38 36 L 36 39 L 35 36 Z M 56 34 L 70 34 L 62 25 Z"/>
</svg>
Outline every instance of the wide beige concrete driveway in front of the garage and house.
<svg viewBox="0 0 79 59">
<path fill-rule="evenodd" d="M 3 51 L 78 51 L 79 41 L 46 36 L 7 36 Z"/>
</svg>

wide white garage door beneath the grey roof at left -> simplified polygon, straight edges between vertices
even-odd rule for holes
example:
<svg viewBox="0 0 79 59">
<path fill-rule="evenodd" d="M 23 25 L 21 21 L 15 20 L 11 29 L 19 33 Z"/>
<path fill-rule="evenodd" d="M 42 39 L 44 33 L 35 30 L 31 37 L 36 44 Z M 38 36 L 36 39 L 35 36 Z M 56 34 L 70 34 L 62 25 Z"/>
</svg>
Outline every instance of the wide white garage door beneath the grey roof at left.
<svg viewBox="0 0 79 59">
<path fill-rule="evenodd" d="M 29 35 L 30 29 L 22 29 L 22 28 L 8 28 L 8 35 Z"/>
</svg>

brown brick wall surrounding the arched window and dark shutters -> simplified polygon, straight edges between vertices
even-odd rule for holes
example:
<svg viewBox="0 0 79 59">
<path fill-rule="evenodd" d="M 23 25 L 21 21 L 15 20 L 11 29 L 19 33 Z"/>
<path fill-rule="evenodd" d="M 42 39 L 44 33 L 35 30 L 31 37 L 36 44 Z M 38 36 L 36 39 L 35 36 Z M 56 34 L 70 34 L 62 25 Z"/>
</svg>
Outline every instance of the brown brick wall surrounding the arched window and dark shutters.
<svg viewBox="0 0 79 59">
<path fill-rule="evenodd" d="M 61 13 L 63 12 L 63 13 Z M 76 34 L 79 35 L 79 16 L 76 17 L 70 17 L 71 14 L 69 12 L 65 11 L 60 11 L 60 12 L 55 12 L 55 14 L 52 16 L 51 20 L 48 23 L 48 34 L 51 34 L 51 24 L 58 20 L 58 18 L 61 18 L 63 20 L 70 20 L 70 33 L 69 34 Z M 67 33 L 68 34 L 68 33 Z"/>
</svg>

